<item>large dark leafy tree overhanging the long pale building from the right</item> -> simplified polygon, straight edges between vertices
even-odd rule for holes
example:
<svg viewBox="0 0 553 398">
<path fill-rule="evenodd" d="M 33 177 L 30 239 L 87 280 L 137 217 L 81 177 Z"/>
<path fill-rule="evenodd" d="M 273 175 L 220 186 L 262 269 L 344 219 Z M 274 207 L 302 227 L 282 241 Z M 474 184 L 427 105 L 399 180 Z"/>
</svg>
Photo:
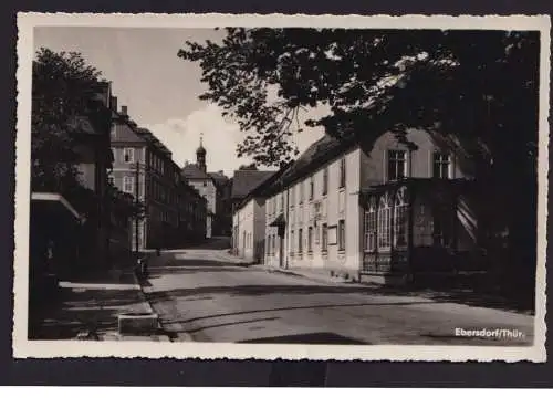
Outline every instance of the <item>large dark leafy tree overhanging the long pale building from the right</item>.
<svg viewBox="0 0 553 398">
<path fill-rule="evenodd" d="M 455 137 L 478 166 L 490 237 L 508 230 L 511 282 L 533 287 L 539 50 L 531 31 L 230 28 L 178 56 L 199 63 L 200 98 L 238 121 L 238 155 L 259 164 L 288 161 L 299 113 L 319 105 L 330 114 L 305 124 L 338 138 Z"/>
</svg>

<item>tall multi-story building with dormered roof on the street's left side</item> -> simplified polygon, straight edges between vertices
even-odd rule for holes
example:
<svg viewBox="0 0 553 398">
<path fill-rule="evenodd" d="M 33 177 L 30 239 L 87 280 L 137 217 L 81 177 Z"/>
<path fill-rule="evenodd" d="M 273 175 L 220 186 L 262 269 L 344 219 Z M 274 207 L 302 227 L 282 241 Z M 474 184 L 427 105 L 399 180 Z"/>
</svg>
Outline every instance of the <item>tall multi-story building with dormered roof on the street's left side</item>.
<svg viewBox="0 0 553 398">
<path fill-rule="evenodd" d="M 144 219 L 133 226 L 133 248 L 178 247 L 181 200 L 197 198 L 182 193 L 180 169 L 169 149 L 149 130 L 139 128 L 128 117 L 126 106 L 122 106 L 113 124 L 112 151 L 114 166 L 109 178 L 145 207 Z"/>
</svg>

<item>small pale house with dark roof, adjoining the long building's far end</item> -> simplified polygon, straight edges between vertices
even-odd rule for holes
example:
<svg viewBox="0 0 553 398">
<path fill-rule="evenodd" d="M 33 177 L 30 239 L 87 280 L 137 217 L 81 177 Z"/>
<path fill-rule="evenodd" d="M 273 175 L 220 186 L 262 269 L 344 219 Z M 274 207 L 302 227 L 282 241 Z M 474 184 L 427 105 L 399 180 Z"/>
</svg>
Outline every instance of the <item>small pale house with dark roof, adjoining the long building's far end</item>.
<svg viewBox="0 0 553 398">
<path fill-rule="evenodd" d="M 232 250 L 237 255 L 246 252 L 246 248 L 253 244 L 253 218 L 259 220 L 258 210 L 264 201 L 243 203 L 243 200 L 262 182 L 268 180 L 274 171 L 236 170 L 232 177 L 231 212 L 232 212 Z M 246 220 L 251 220 L 246 222 Z M 251 238 L 250 238 L 251 235 Z M 250 242 L 250 243 L 248 243 Z"/>
</svg>

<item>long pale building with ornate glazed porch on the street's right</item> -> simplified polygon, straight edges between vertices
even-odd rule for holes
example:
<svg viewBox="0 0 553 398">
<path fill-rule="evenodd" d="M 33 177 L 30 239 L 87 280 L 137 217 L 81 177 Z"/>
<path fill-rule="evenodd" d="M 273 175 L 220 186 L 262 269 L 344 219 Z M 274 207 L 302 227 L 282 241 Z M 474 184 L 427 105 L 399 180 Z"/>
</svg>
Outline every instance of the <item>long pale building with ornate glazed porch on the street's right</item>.
<svg viewBox="0 0 553 398">
<path fill-rule="evenodd" d="M 425 130 L 403 138 L 314 143 L 267 189 L 267 263 L 374 282 L 470 263 L 478 219 L 470 159 Z"/>
</svg>

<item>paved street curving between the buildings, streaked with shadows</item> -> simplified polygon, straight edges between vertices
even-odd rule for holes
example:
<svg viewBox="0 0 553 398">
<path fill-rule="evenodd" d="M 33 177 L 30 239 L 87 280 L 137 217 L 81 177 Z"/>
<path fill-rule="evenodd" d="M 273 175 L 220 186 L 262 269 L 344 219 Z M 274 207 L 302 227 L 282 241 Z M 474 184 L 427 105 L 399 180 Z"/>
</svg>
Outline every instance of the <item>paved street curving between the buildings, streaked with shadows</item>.
<svg viewBox="0 0 553 398">
<path fill-rule="evenodd" d="M 163 252 L 145 292 L 173 341 L 305 344 L 530 345 L 533 316 L 386 295 L 238 264 L 215 247 Z M 456 336 L 501 329 L 519 337 Z"/>
</svg>

